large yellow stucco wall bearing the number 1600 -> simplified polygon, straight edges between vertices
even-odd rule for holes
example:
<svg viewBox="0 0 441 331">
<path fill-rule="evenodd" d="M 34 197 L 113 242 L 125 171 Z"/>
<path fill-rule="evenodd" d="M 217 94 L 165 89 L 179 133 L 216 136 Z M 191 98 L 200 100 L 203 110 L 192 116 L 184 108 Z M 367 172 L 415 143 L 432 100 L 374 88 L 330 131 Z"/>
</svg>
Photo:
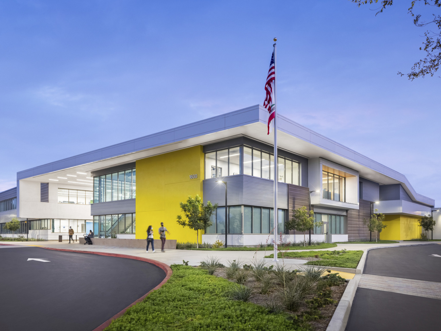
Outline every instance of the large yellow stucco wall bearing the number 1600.
<svg viewBox="0 0 441 331">
<path fill-rule="evenodd" d="M 191 179 L 190 175 L 198 178 Z M 168 239 L 196 242 L 196 231 L 176 223 L 182 214 L 180 202 L 188 196 L 202 197 L 204 153 L 202 146 L 152 156 L 136 161 L 136 238 L 146 239 L 146 230 L 153 226 L 154 238 L 159 239 L 161 222 L 168 229 Z M 199 231 L 199 242 L 202 233 Z"/>
</svg>

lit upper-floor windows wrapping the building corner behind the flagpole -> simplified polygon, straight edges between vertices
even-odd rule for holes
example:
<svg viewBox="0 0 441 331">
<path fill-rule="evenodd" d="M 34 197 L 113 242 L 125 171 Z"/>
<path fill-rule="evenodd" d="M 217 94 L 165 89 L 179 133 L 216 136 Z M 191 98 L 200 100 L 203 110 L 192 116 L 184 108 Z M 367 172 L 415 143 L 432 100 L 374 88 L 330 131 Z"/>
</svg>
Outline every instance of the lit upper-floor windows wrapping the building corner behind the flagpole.
<svg viewBox="0 0 441 331">
<path fill-rule="evenodd" d="M 299 185 L 300 165 L 289 158 L 278 158 L 278 181 Z M 244 173 L 274 180 L 274 155 L 247 146 L 217 150 L 205 154 L 205 178 Z"/>
</svg>

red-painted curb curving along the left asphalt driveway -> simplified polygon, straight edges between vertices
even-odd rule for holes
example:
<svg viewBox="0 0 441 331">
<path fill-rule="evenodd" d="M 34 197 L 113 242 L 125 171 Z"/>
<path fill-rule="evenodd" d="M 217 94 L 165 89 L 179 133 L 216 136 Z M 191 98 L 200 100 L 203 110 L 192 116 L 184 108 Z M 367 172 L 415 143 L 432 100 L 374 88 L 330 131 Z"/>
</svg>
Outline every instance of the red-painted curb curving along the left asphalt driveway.
<svg viewBox="0 0 441 331">
<path fill-rule="evenodd" d="M 154 290 L 157 290 L 157 289 L 161 288 L 161 286 L 163 286 L 168 281 L 168 279 L 172 276 L 172 273 L 173 273 L 172 269 L 167 264 L 159 262 L 159 261 L 155 261 L 155 260 L 146 259 L 145 257 L 124 255 L 124 254 L 116 254 L 116 253 L 105 253 L 105 252 L 77 251 L 77 250 L 74 250 L 74 249 L 63 249 L 63 248 L 52 248 L 52 247 L 41 247 L 41 248 L 50 249 L 52 251 L 87 253 L 87 254 L 97 254 L 97 255 L 104 255 L 104 256 L 123 257 L 125 259 L 132 259 L 132 260 L 138 260 L 138 261 L 143 261 L 143 262 L 147 262 L 147 263 L 152 263 L 155 266 L 160 267 L 162 270 L 164 270 L 165 278 L 164 278 L 164 280 L 162 282 L 160 282 L 158 284 L 158 286 L 156 286 L 155 288 L 153 288 L 152 290 L 150 290 L 149 292 L 144 294 L 142 297 L 140 297 L 138 300 L 136 300 L 135 302 L 131 303 L 126 308 L 124 308 L 123 310 L 121 310 L 120 312 L 118 312 L 117 314 L 112 316 L 111 318 L 109 318 L 107 321 L 102 323 L 99 327 L 93 329 L 93 331 L 103 331 L 106 327 L 108 327 L 110 325 L 110 323 L 112 323 L 112 320 L 116 320 L 118 317 L 123 316 L 123 314 L 126 312 L 126 310 L 128 308 L 130 308 L 131 306 L 134 306 L 138 302 L 141 302 L 142 300 L 144 300 Z"/>
</svg>

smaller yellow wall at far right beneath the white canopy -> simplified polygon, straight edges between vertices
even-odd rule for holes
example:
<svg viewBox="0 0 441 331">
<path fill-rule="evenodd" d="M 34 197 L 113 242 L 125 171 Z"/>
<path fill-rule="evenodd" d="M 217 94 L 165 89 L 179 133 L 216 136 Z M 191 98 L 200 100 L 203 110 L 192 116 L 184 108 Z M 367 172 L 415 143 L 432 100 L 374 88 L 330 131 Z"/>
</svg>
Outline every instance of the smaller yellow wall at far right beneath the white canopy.
<svg viewBox="0 0 441 331">
<path fill-rule="evenodd" d="M 386 215 L 387 227 L 380 233 L 381 240 L 407 240 L 419 238 L 421 227 L 418 216 Z"/>
</svg>

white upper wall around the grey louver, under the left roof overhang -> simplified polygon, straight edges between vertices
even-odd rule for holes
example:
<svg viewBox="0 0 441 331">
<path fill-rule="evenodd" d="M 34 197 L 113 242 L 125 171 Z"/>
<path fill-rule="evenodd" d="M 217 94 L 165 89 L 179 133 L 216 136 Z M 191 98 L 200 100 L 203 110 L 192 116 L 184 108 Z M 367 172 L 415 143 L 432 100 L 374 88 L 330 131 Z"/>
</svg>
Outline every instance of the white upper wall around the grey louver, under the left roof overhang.
<svg viewBox="0 0 441 331">
<path fill-rule="evenodd" d="M 19 181 L 19 215 L 21 218 L 93 219 L 90 205 L 58 203 L 58 185 L 49 183 L 49 202 L 40 202 L 40 182 Z M 84 190 L 79 185 L 62 184 L 62 188 Z"/>
</svg>

